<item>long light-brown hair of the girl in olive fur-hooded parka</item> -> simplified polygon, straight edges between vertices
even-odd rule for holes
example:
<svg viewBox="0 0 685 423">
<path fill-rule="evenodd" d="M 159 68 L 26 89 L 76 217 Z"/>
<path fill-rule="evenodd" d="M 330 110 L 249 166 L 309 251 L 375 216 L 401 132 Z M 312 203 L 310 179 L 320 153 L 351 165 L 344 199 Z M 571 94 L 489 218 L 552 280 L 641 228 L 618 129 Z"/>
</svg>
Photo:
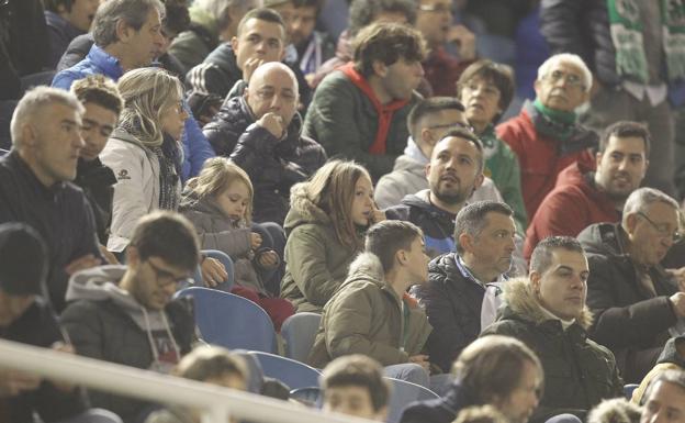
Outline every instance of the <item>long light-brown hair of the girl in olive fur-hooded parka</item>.
<svg viewBox="0 0 685 423">
<path fill-rule="evenodd" d="M 362 248 L 362 240 L 350 215 L 355 186 L 361 177 L 371 180 L 369 171 L 355 162 L 330 160 L 305 183 L 306 196 L 330 216 L 338 241 L 352 248 Z"/>
</svg>

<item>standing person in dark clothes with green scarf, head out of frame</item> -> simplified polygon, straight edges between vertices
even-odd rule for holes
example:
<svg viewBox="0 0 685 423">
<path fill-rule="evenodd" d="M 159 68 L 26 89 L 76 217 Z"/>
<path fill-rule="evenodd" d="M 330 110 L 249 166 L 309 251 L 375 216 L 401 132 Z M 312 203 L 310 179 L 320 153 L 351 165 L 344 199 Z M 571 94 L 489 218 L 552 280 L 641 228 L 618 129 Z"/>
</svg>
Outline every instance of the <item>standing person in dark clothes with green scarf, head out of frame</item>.
<svg viewBox="0 0 685 423">
<path fill-rule="evenodd" d="M 672 105 L 685 102 L 685 67 L 683 53 L 671 46 L 680 45 L 676 34 L 685 26 L 669 19 L 669 7 L 675 4 L 640 0 L 622 5 L 543 0 L 540 31 L 552 53 L 575 53 L 593 73 L 595 94 L 585 116 L 589 127 L 602 131 L 622 120 L 648 124 L 654 142 L 648 158 L 658 166 L 647 170 L 645 186 L 674 196 Z"/>
</svg>

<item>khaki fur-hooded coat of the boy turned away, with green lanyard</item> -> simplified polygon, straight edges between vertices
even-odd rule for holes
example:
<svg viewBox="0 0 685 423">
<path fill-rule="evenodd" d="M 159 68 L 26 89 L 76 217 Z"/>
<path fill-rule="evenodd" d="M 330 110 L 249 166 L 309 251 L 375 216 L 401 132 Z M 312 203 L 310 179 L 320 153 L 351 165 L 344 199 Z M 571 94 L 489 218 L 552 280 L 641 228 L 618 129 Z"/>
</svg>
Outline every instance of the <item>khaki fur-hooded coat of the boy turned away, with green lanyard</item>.
<svg viewBox="0 0 685 423">
<path fill-rule="evenodd" d="M 324 368 L 330 360 L 363 354 L 383 366 L 409 361 L 430 331 L 423 309 L 408 296 L 397 297 L 378 256 L 360 254 L 349 276 L 324 307 L 308 363 Z"/>
</svg>

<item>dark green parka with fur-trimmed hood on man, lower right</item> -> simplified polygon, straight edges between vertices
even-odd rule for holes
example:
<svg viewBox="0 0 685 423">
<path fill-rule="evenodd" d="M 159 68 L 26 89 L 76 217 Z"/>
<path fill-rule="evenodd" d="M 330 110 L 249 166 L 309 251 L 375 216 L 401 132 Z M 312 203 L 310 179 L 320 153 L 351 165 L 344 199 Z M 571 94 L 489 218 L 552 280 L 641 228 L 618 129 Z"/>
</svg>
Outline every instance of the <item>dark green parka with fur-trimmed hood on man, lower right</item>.
<svg viewBox="0 0 685 423">
<path fill-rule="evenodd" d="M 587 308 L 565 331 L 540 307 L 528 279 L 504 288 L 505 307 L 497 322 L 482 334 L 512 336 L 530 347 L 544 371 L 544 393 L 530 418 L 544 422 L 571 413 L 582 420 L 603 399 L 621 397 L 624 382 L 611 352 L 587 338 L 592 313 Z"/>
</svg>

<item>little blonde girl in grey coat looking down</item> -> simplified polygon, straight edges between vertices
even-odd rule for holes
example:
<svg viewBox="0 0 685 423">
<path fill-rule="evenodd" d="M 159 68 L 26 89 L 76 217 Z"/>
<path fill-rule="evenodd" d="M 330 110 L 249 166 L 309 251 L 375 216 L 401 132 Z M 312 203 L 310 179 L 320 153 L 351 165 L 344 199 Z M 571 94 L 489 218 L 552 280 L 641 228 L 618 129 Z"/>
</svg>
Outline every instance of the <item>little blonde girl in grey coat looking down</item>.
<svg viewBox="0 0 685 423">
<path fill-rule="evenodd" d="M 252 194 L 245 170 L 214 157 L 188 181 L 179 211 L 194 224 L 203 249 L 218 249 L 233 259 L 236 285 L 231 291 L 261 305 L 280 331 L 294 309 L 288 300 L 272 298 L 265 286 L 280 257 L 268 231 L 250 222 Z"/>
</svg>

